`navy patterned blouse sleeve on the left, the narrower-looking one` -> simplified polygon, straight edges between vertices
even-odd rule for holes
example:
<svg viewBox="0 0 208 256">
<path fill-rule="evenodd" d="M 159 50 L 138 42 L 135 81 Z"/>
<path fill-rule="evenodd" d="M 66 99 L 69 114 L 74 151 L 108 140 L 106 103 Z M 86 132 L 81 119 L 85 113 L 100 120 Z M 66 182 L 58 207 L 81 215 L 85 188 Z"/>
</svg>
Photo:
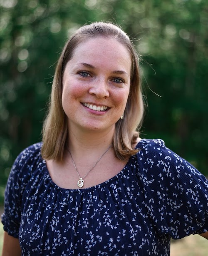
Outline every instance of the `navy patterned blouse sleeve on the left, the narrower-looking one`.
<svg viewBox="0 0 208 256">
<path fill-rule="evenodd" d="M 38 145 L 38 143 L 34 145 Z M 27 181 L 30 179 L 31 166 L 34 161 L 34 149 L 37 148 L 34 145 L 26 148 L 17 156 L 5 188 L 2 223 L 4 230 L 15 238 L 18 238 L 21 222 L 22 194 Z"/>
</svg>

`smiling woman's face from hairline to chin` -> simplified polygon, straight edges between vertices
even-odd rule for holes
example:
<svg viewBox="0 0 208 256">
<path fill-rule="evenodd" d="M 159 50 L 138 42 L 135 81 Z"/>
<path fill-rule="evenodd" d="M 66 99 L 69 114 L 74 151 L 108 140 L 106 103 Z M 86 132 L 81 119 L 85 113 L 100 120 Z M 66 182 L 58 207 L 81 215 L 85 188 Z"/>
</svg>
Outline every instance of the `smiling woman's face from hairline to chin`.
<svg viewBox="0 0 208 256">
<path fill-rule="evenodd" d="M 130 76 L 130 53 L 116 39 L 80 43 L 63 75 L 62 106 L 69 131 L 114 129 L 126 107 Z"/>
</svg>

